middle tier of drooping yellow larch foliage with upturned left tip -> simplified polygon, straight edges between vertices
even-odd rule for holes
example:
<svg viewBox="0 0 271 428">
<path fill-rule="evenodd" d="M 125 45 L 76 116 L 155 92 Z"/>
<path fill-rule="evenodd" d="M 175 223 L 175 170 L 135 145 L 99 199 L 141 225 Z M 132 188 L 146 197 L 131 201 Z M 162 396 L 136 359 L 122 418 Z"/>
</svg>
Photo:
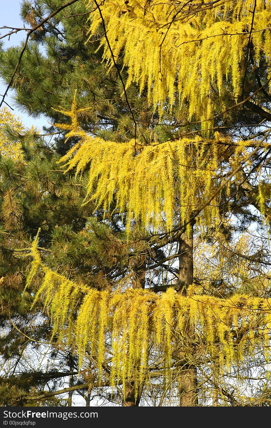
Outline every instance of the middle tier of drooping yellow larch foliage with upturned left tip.
<svg viewBox="0 0 271 428">
<path fill-rule="evenodd" d="M 55 126 L 69 131 L 66 139 L 78 136 L 81 140 L 61 159 L 67 171 L 75 168 L 83 172 L 90 165 L 87 198 L 104 211 L 114 206 L 127 213 L 126 226 L 132 219 L 141 219 L 142 226 L 157 230 L 160 226 L 170 230 L 173 218 L 180 223 L 190 220 L 193 211 L 205 204 L 221 184 L 222 160 L 229 152 L 225 146 L 233 144 L 230 168 L 244 159 L 246 144 L 233 143 L 228 137 L 215 133 L 214 138 L 196 136 L 165 143 L 141 145 L 135 140 L 127 143 L 93 138 L 79 128 L 75 101 L 72 110 L 59 110 L 71 117 L 70 125 Z M 220 193 L 207 206 L 196 221 L 200 225 L 215 225 L 219 219 Z M 220 221 L 220 220 L 219 220 Z"/>
</svg>

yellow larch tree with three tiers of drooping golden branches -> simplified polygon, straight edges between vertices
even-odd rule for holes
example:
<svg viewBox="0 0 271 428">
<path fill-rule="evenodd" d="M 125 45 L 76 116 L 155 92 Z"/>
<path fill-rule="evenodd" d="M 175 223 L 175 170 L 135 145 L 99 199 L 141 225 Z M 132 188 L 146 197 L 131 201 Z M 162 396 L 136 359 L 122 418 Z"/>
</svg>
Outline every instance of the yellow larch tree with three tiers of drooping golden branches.
<svg viewBox="0 0 271 428">
<path fill-rule="evenodd" d="M 250 396 L 226 392 L 225 376 L 252 364 L 256 355 L 263 365 L 269 361 L 270 278 L 263 253 L 250 247 L 245 233 L 234 240 L 229 230 L 234 232 L 234 216 L 242 217 L 243 231 L 248 227 L 246 219 L 254 217 L 243 208 L 249 205 L 261 213 L 261 227 L 269 227 L 270 130 L 259 131 L 257 122 L 257 137 L 240 139 L 217 130 L 221 124 L 241 126 L 244 107 L 271 118 L 268 102 L 259 105 L 253 98 L 259 92 L 270 97 L 271 2 L 86 4 L 89 41 L 102 26 L 100 48 L 108 69 L 121 62 L 127 73 L 123 98 L 136 83 L 138 97 L 147 93 L 161 121 L 178 106 L 170 125 L 178 127 L 185 110 L 187 126 L 194 128 L 186 128 L 189 137 L 150 143 L 135 127 L 133 139 L 110 141 L 80 126 L 76 94 L 70 110 L 59 107 L 70 125 L 55 126 L 66 132 L 66 141 L 77 139 L 60 163 L 82 175 L 85 203 L 93 201 L 105 222 L 112 211 L 120 214 L 130 269 L 110 289 L 90 288 L 48 267 L 37 236 L 27 285 L 36 275 L 43 277 L 36 300 L 44 301 L 53 335 L 78 354 L 80 368 L 96 367 L 99 380 L 92 377 L 90 388 L 102 386 L 110 372 L 111 387 L 121 384 L 123 405 L 132 406 L 144 388 L 152 394 L 162 377 L 161 402 L 166 396 L 172 403 L 173 395 L 178 405 L 195 406 L 208 389 L 200 392 L 200 379 L 213 393 L 207 402 L 251 405 Z M 248 76 L 255 70 L 262 74 L 251 91 Z M 172 260 L 177 268 L 170 280 L 155 283 L 147 273 L 156 266 L 150 263 L 152 252 L 161 249 L 168 254 L 157 266 L 167 270 Z M 236 377 L 241 382 L 242 375 Z"/>
</svg>

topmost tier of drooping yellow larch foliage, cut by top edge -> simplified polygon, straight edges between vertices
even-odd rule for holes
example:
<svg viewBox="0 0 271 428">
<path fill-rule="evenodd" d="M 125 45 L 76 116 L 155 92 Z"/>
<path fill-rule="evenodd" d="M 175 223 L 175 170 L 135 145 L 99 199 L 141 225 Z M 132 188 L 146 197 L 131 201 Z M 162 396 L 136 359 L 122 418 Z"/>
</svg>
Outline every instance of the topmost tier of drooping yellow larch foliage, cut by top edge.
<svg viewBox="0 0 271 428">
<path fill-rule="evenodd" d="M 101 24 L 100 9 L 114 57 L 121 55 L 128 68 L 126 86 L 135 81 L 143 90 L 147 85 L 149 102 L 158 104 L 161 114 L 167 97 L 171 105 L 178 98 L 188 100 L 190 118 L 201 120 L 223 110 L 223 102 L 213 104 L 215 92 L 221 100 L 232 92 L 237 100 L 249 37 L 255 65 L 265 56 L 271 76 L 270 0 L 130 0 L 128 6 L 105 0 L 99 9 L 93 0 L 85 1 L 92 10 L 90 36 Z M 113 65 L 105 37 L 101 44 L 104 59 Z"/>
</svg>

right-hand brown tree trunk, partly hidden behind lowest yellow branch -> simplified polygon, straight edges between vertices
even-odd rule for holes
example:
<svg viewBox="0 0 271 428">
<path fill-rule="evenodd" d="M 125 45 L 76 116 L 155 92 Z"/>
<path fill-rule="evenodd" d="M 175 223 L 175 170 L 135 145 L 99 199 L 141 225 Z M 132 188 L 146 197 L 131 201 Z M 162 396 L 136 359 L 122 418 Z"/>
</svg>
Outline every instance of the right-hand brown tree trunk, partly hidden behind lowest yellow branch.
<svg viewBox="0 0 271 428">
<path fill-rule="evenodd" d="M 179 293 L 187 295 L 187 287 L 193 284 L 193 224 L 190 227 L 188 236 L 184 236 L 179 241 L 179 282 L 182 285 Z M 194 328 L 187 320 L 186 336 L 188 346 L 193 353 Z M 191 358 L 186 354 L 185 348 L 181 351 L 180 357 L 186 360 L 180 372 L 179 378 L 179 397 L 180 406 L 197 406 L 197 370 L 191 362 Z"/>
</svg>

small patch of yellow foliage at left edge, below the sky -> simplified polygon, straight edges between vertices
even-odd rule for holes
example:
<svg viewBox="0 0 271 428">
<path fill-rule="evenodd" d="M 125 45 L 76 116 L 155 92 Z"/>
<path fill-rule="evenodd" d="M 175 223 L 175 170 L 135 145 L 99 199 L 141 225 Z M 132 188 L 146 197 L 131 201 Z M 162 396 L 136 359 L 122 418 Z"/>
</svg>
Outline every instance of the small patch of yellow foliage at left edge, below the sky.
<svg viewBox="0 0 271 428">
<path fill-rule="evenodd" d="M 12 129 L 12 132 L 22 133 L 24 128 L 19 118 L 4 107 L 0 110 L 0 154 L 12 159 L 21 160 L 21 145 L 19 142 L 10 140 L 7 136 L 6 126 Z"/>
</svg>

